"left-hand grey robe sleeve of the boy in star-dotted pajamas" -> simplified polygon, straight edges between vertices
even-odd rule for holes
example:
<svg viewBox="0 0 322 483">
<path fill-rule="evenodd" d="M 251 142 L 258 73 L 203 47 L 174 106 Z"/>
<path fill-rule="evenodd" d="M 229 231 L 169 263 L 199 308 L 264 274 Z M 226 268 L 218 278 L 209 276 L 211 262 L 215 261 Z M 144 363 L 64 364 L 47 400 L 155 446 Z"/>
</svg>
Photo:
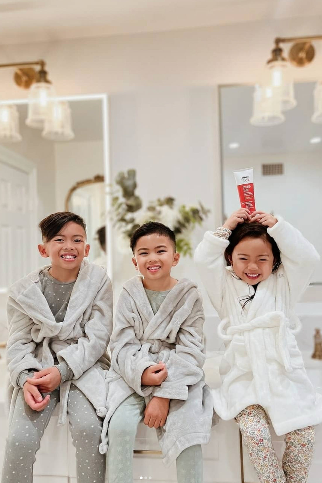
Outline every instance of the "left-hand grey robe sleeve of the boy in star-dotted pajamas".
<svg viewBox="0 0 322 483">
<path fill-rule="evenodd" d="M 15 388 L 18 388 L 20 387 L 19 376 L 23 371 L 41 370 L 42 365 L 35 357 L 36 342 L 31 337 L 34 322 L 12 297 L 8 299 L 7 315 L 9 327 L 7 364 L 10 382 Z M 23 384 L 23 381 L 21 383 Z"/>
</svg>

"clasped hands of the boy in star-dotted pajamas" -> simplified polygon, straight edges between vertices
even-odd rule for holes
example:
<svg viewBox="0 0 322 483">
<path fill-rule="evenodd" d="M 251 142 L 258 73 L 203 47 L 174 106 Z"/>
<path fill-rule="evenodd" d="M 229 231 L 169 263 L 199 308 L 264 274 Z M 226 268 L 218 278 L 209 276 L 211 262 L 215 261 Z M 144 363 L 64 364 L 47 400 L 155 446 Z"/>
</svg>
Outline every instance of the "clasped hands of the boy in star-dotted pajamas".
<svg viewBox="0 0 322 483">
<path fill-rule="evenodd" d="M 34 372 L 33 377 L 28 377 L 23 387 L 24 398 L 28 406 L 34 411 L 45 409 L 49 403 L 50 396 L 47 394 L 43 398 L 41 392 L 49 393 L 54 391 L 59 386 L 60 381 L 61 375 L 56 367 L 49 367 L 39 372 Z"/>
</svg>

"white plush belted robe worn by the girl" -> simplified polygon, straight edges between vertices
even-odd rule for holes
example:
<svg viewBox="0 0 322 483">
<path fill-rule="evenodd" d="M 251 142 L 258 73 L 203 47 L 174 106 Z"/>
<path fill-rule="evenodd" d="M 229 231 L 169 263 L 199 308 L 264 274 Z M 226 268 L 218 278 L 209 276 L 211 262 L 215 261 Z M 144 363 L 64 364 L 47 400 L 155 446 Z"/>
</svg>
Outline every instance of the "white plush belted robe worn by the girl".
<svg viewBox="0 0 322 483">
<path fill-rule="evenodd" d="M 244 310 L 239 301 L 254 288 L 226 267 L 229 241 L 206 232 L 195 261 L 221 318 L 218 335 L 226 345 L 219 368 L 222 385 L 212 391 L 214 409 L 228 420 L 247 406 L 260 404 L 281 435 L 322 421 L 322 396 L 304 368 L 294 337 L 300 322 L 293 312 L 320 257 L 281 218 L 267 232 L 279 246 L 282 264 L 258 284 Z"/>
</svg>

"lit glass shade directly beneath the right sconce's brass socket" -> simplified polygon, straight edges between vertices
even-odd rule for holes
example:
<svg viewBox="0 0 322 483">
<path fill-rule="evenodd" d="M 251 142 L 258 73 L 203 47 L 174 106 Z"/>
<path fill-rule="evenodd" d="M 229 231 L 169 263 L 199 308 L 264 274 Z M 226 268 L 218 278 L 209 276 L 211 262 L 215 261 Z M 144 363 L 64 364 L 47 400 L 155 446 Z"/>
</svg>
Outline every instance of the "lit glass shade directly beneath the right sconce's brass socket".
<svg viewBox="0 0 322 483">
<path fill-rule="evenodd" d="M 281 110 L 289 111 L 293 109 L 297 102 L 294 98 L 294 84 L 291 75 L 291 66 L 286 61 L 276 61 L 267 64 L 268 78 L 267 84 L 275 88 L 275 92 L 280 96 Z"/>
</svg>

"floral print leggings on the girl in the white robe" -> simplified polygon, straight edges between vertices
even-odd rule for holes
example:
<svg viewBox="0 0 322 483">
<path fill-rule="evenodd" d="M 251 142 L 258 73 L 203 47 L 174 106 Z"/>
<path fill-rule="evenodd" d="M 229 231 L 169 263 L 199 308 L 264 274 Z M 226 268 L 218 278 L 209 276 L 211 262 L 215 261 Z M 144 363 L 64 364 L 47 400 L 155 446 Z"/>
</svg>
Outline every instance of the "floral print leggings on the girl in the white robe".
<svg viewBox="0 0 322 483">
<path fill-rule="evenodd" d="M 282 465 L 274 451 L 267 414 L 258 404 L 248 406 L 236 416 L 248 454 L 261 483 L 306 483 L 313 452 L 313 426 L 285 435 Z"/>
</svg>

